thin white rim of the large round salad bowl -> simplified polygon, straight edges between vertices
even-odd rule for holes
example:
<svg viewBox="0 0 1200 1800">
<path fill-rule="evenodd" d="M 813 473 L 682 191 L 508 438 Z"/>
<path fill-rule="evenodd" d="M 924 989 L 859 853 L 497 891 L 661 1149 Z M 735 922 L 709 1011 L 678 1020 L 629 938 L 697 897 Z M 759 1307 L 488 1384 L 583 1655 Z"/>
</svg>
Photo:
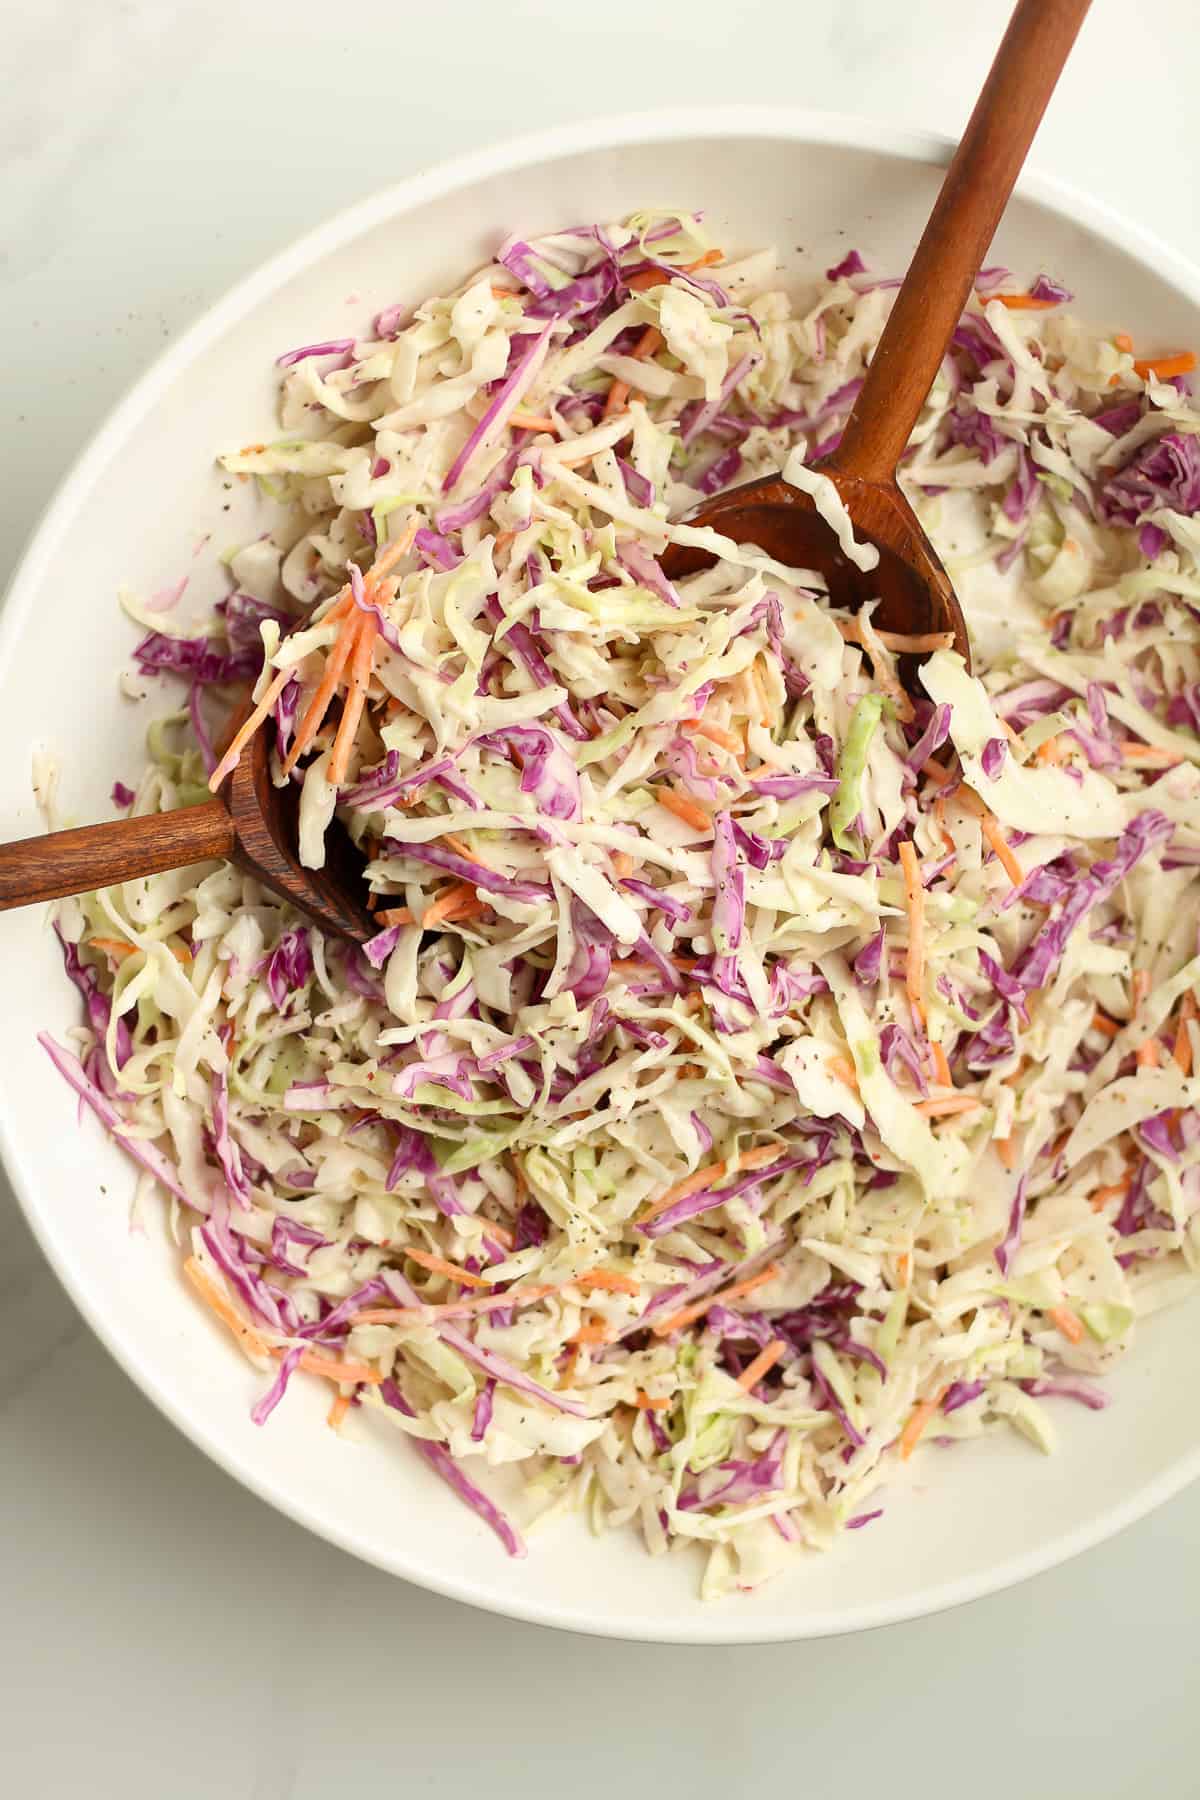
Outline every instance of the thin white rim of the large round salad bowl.
<svg viewBox="0 0 1200 1800">
<path fill-rule="evenodd" d="M 943 133 L 914 131 L 855 113 L 815 112 L 792 106 L 678 106 L 583 119 L 543 131 L 506 137 L 480 149 L 437 162 L 430 169 L 423 169 L 349 207 L 342 207 L 315 229 L 295 238 L 248 275 L 243 275 L 212 306 L 205 308 L 178 338 L 155 356 L 149 367 L 126 391 L 124 398 L 106 414 L 41 508 L 16 560 L 4 601 L 0 603 L 0 670 L 7 666 L 16 648 L 29 608 L 45 578 L 47 563 L 92 482 L 194 356 L 205 351 L 230 326 L 237 324 L 254 306 L 268 299 L 293 275 L 320 257 L 338 250 L 349 239 L 417 205 L 450 196 L 479 180 L 515 173 L 531 164 L 558 162 L 570 155 L 619 149 L 628 144 L 675 142 L 689 137 L 718 140 L 745 137 L 788 144 L 828 144 L 849 151 L 874 151 L 885 157 L 901 157 L 934 166 L 946 164 L 955 149 L 955 140 Z M 1150 263 L 1162 279 L 1182 292 L 1200 310 L 1200 266 L 1173 250 L 1155 232 L 1130 221 L 1115 207 L 1094 200 L 1070 182 L 1042 175 L 1036 169 L 1022 175 L 1016 193 L 1045 207 L 1049 212 L 1069 220 L 1072 225 L 1094 230 L 1106 243 L 1119 245 L 1139 263 Z M 734 1645 L 844 1636 L 878 1625 L 925 1618 L 1027 1580 L 1031 1575 L 1054 1568 L 1079 1555 L 1083 1550 L 1103 1543 L 1200 1478 L 1200 1444 L 1196 1444 L 1191 1453 L 1178 1456 L 1169 1469 L 1146 1480 L 1121 1501 L 1096 1512 L 1074 1530 L 1060 1532 L 1034 1550 L 1011 1555 L 973 1575 L 932 1582 L 907 1600 L 847 1607 L 844 1616 L 826 1615 L 811 1620 L 797 1609 L 793 1618 L 770 1620 L 756 1618 L 750 1613 L 738 1618 L 736 1611 L 714 1609 L 709 1618 L 691 1616 L 673 1624 L 671 1620 L 657 1620 L 649 1615 L 599 1618 L 579 1606 L 525 1602 L 520 1593 L 511 1600 L 507 1597 L 479 1595 L 470 1580 L 459 1580 L 452 1571 L 428 1570 L 405 1553 L 381 1552 L 358 1534 L 317 1517 L 304 1496 L 293 1494 L 272 1478 L 248 1467 L 237 1451 L 230 1449 L 205 1426 L 189 1417 L 187 1406 L 171 1393 L 169 1381 L 144 1361 L 131 1336 L 126 1334 L 124 1321 L 113 1318 L 92 1298 L 86 1269 L 74 1267 L 70 1246 L 59 1242 L 49 1219 L 41 1217 L 36 1170 L 32 1165 L 27 1166 L 22 1161 L 2 1096 L 0 1161 L 9 1174 L 13 1192 L 29 1228 L 67 1294 L 124 1373 L 184 1436 L 259 1499 L 317 1537 L 419 1588 L 504 1618 L 516 1618 L 587 1636 L 649 1643 Z"/>
</svg>

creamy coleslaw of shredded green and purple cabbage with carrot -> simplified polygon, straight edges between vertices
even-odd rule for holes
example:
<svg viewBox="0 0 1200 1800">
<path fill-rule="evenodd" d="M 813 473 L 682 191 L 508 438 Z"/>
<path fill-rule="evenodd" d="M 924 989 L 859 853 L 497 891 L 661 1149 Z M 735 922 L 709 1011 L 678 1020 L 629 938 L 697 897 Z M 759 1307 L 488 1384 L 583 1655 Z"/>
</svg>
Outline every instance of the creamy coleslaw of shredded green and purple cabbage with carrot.
<svg viewBox="0 0 1200 1800">
<path fill-rule="evenodd" d="M 797 295 L 676 212 L 507 239 L 279 358 L 282 436 L 221 457 L 270 531 L 203 630 L 126 596 L 187 704 L 117 803 L 270 720 L 380 929 L 225 864 L 63 902 L 86 1024 L 43 1042 L 254 1418 L 327 1381 L 511 1553 L 583 1510 L 754 1586 L 918 1444 L 1052 1449 L 1193 1287 L 1193 358 L 981 272 L 903 466 L 975 675 L 687 524 L 819 493 L 894 286 L 851 252 Z"/>
</svg>

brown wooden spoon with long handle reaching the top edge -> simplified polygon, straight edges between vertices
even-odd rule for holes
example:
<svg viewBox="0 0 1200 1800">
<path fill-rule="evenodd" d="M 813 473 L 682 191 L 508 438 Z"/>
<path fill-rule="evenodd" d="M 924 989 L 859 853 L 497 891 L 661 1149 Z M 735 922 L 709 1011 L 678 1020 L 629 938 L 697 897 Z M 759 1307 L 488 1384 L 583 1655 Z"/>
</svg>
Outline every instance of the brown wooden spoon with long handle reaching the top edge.
<svg viewBox="0 0 1200 1800">
<path fill-rule="evenodd" d="M 1004 41 L 954 153 L 941 193 L 858 400 L 833 455 L 819 468 L 851 517 L 855 535 L 880 553 L 864 574 L 808 493 L 779 475 L 729 488 L 700 506 L 691 526 L 712 526 L 739 544 L 756 544 L 790 569 L 817 569 L 835 605 L 878 599 L 876 625 L 907 637 L 954 635 L 970 668 L 970 637 L 950 576 L 896 484 L 903 455 L 954 328 L 972 292 L 1000 214 L 1054 92 L 1090 0 L 1018 0 Z M 660 558 L 669 580 L 716 558 L 671 545 Z M 910 686 L 916 662 L 901 659 Z"/>
</svg>

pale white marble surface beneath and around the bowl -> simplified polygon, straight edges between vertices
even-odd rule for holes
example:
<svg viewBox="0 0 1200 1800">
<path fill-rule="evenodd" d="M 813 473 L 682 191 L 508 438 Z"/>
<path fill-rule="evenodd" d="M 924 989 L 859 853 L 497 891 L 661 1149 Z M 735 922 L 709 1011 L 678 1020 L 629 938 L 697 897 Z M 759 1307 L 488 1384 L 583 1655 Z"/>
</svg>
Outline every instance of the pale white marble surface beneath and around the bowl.
<svg viewBox="0 0 1200 1800">
<path fill-rule="evenodd" d="M 160 344 L 344 202 L 534 122 L 666 99 L 955 130 L 1006 5 L 20 13 L 0 68 L 4 574 Z M 1036 162 L 1200 256 L 1198 77 L 1191 0 L 1097 0 Z M 309 1539 L 205 1462 L 94 1343 L 0 1192 L 5 1795 L 324 1800 L 383 1778 L 457 1796 L 482 1777 L 497 1800 L 664 1784 L 727 1800 L 849 1777 L 896 1796 L 1182 1796 L 1198 1573 L 1193 1490 L 1069 1568 L 869 1638 L 687 1652 L 473 1615 Z"/>
</svg>

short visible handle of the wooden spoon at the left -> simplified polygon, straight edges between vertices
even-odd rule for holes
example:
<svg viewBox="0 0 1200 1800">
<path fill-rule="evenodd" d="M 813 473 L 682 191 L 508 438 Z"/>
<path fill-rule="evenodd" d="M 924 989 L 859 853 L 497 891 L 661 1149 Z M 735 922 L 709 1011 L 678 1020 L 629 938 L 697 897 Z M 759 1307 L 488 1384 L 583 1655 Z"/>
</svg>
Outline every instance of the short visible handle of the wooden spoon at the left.
<svg viewBox="0 0 1200 1800">
<path fill-rule="evenodd" d="M 50 832 L 0 844 L 0 913 L 36 900 L 90 893 L 139 875 L 160 875 L 187 862 L 228 857 L 234 821 L 219 799 L 178 812 L 153 812 L 76 832 Z"/>
</svg>

